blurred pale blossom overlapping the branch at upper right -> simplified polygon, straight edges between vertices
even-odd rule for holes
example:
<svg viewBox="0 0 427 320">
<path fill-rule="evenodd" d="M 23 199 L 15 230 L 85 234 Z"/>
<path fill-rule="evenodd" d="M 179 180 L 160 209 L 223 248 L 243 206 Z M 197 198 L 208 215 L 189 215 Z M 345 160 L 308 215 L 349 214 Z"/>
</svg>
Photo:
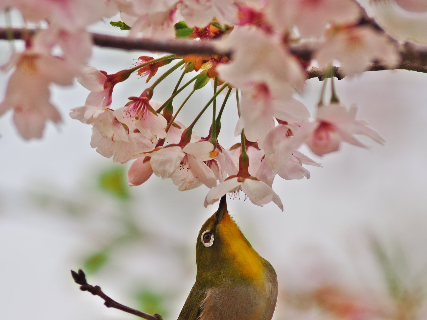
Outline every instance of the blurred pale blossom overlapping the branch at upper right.
<svg viewBox="0 0 427 320">
<path fill-rule="evenodd" d="M 322 67 L 338 60 L 346 75 L 365 71 L 374 61 L 392 69 L 401 60 L 388 36 L 368 26 L 340 29 L 319 49 L 315 59 Z"/>
</svg>

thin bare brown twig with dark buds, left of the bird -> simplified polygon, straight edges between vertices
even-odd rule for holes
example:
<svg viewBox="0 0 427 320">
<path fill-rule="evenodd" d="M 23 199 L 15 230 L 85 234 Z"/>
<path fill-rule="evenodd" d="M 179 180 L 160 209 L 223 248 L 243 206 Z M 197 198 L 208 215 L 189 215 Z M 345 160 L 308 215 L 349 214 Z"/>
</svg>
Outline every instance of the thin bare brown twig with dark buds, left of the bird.
<svg viewBox="0 0 427 320">
<path fill-rule="evenodd" d="M 78 285 L 80 285 L 80 290 L 89 291 L 91 294 L 101 297 L 105 301 L 104 305 L 108 308 L 116 308 L 147 320 L 163 320 L 160 314 L 156 313 L 155 315 L 151 315 L 145 312 L 138 311 L 136 309 L 126 307 L 126 305 L 122 305 L 114 301 L 104 292 L 102 292 L 101 287 L 99 287 L 99 285 L 93 286 L 88 284 L 88 282 L 86 281 L 86 275 L 82 269 L 79 269 L 79 272 L 71 270 L 71 275 L 73 276 L 74 281 Z"/>
</svg>

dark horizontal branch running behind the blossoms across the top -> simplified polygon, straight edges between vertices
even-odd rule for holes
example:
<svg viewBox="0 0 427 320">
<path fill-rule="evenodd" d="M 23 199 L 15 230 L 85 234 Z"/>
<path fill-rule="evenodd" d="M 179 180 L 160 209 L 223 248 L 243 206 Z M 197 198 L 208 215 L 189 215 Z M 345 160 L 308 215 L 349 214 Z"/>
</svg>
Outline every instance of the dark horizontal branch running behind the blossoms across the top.
<svg viewBox="0 0 427 320">
<path fill-rule="evenodd" d="M 371 20 L 367 20 L 368 22 Z M 368 24 L 368 22 L 363 22 Z M 372 23 L 372 22 L 369 22 Z M 376 26 L 376 25 L 374 25 Z M 373 27 L 374 27 L 373 26 Z M 379 27 L 377 27 L 379 28 Z M 36 32 L 35 29 L 7 29 L 0 28 L 0 40 L 7 40 L 9 37 L 14 39 L 23 39 L 28 35 Z M 232 52 L 225 52 L 218 49 L 213 43 L 208 41 L 192 41 L 192 40 L 153 40 L 147 38 L 126 38 L 112 35 L 102 35 L 92 33 L 94 44 L 98 47 L 106 47 L 112 49 L 122 49 L 126 51 L 160 51 L 168 52 L 176 55 L 226 55 L 230 57 Z M 397 41 L 395 41 L 397 44 Z M 398 45 L 398 44 L 397 44 Z M 317 51 L 319 45 L 316 44 L 292 44 L 289 49 L 292 55 L 300 58 L 303 61 L 310 61 L 313 58 L 314 52 Z M 421 46 L 406 42 L 403 45 L 398 45 L 401 55 L 401 64 L 395 69 L 411 70 L 422 73 L 427 73 L 427 46 Z M 334 76 L 338 79 L 344 78 L 341 68 L 333 67 Z M 389 70 L 384 65 L 372 64 L 371 68 L 366 71 Z M 323 79 L 324 70 L 313 67 L 307 70 L 308 79 L 319 78 Z"/>
</svg>

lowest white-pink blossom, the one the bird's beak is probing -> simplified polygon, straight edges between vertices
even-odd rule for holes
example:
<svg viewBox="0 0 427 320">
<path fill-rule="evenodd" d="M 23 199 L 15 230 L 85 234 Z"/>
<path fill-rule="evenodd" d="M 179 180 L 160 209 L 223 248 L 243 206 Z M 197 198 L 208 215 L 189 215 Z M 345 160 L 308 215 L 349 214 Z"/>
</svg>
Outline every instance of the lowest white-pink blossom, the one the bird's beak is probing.
<svg viewBox="0 0 427 320">
<path fill-rule="evenodd" d="M 283 204 L 273 189 L 252 176 L 247 178 L 240 176 L 228 177 L 224 182 L 209 190 L 204 206 L 207 207 L 208 204 L 215 203 L 226 193 L 238 193 L 240 191 L 245 193 L 249 200 L 257 206 L 263 207 L 264 204 L 273 201 L 283 211 Z"/>
</svg>

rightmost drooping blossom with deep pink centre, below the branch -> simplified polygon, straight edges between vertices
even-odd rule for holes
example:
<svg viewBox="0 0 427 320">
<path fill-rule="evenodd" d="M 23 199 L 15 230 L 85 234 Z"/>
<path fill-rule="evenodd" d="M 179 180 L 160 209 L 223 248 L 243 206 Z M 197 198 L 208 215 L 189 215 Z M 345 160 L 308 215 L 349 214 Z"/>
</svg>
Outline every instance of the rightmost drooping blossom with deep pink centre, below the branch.
<svg viewBox="0 0 427 320">
<path fill-rule="evenodd" d="M 383 144 L 383 137 L 369 127 L 366 121 L 356 119 L 356 113 L 356 106 L 347 110 L 339 104 L 324 105 L 317 112 L 317 120 L 302 124 L 301 130 L 297 131 L 293 139 L 304 140 L 311 151 L 319 156 L 338 151 L 342 141 L 367 148 L 354 134 L 366 135 Z"/>
</svg>

